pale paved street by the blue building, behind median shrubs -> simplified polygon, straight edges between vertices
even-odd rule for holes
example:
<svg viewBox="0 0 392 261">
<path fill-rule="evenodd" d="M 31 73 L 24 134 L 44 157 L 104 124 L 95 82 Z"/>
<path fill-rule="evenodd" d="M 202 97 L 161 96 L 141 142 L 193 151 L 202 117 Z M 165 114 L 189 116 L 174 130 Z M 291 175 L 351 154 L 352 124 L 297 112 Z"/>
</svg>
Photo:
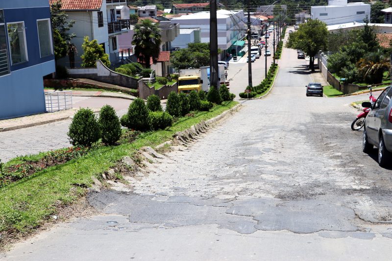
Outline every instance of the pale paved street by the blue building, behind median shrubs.
<svg viewBox="0 0 392 261">
<path fill-rule="evenodd" d="M 119 116 L 126 113 L 130 100 L 106 97 L 74 97 L 73 108 L 100 108 L 105 104 L 113 106 Z M 70 146 L 67 132 L 71 120 L 63 120 L 0 132 L 0 160 L 6 162 L 16 156 L 36 154 Z"/>
</svg>

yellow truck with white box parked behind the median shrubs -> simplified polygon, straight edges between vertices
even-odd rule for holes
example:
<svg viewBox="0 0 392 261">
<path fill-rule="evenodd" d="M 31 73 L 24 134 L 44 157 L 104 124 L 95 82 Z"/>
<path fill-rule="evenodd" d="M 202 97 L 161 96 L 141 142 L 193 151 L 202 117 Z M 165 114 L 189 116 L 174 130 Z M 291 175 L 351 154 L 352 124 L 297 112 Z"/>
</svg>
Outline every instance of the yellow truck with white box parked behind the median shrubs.
<svg viewBox="0 0 392 261">
<path fill-rule="evenodd" d="M 203 80 L 200 79 L 200 69 L 180 70 L 178 77 L 178 93 L 189 94 L 191 91 L 200 92 Z"/>
</svg>

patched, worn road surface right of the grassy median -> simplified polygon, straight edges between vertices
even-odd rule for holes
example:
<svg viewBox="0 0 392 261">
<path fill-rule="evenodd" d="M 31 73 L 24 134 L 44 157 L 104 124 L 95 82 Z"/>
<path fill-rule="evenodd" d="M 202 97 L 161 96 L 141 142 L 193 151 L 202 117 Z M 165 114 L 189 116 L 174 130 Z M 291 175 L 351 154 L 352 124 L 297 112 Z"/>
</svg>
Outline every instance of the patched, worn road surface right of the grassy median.
<svg viewBox="0 0 392 261">
<path fill-rule="evenodd" d="M 90 192 L 100 215 L 60 223 L 3 259 L 391 259 L 392 172 L 362 153 L 353 98 L 306 97 L 313 80 L 295 50 L 281 64 L 266 98 L 160 159 L 145 155 L 125 186 Z"/>
</svg>

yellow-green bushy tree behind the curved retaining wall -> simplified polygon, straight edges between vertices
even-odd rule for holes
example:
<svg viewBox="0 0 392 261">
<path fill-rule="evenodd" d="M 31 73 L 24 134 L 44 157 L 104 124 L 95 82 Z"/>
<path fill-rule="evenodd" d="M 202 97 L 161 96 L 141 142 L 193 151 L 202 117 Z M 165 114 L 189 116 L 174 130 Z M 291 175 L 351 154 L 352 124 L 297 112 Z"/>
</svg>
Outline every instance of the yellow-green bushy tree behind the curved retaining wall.
<svg viewBox="0 0 392 261">
<path fill-rule="evenodd" d="M 109 55 L 105 53 L 103 47 L 98 44 L 97 40 L 89 41 L 89 37 L 84 37 L 84 42 L 82 44 L 83 54 L 80 56 L 82 58 L 82 67 L 96 67 L 96 61 L 101 60 L 107 67 L 110 66 Z"/>
</svg>

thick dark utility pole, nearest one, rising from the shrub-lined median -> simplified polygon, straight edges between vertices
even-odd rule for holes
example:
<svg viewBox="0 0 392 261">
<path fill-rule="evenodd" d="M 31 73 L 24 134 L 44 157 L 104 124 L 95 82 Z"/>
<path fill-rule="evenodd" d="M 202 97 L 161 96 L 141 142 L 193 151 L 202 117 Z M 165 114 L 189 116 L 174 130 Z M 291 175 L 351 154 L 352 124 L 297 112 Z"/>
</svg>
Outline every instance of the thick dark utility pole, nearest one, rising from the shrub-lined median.
<svg viewBox="0 0 392 261">
<path fill-rule="evenodd" d="M 210 86 L 219 85 L 217 1 L 210 0 Z"/>
</svg>

